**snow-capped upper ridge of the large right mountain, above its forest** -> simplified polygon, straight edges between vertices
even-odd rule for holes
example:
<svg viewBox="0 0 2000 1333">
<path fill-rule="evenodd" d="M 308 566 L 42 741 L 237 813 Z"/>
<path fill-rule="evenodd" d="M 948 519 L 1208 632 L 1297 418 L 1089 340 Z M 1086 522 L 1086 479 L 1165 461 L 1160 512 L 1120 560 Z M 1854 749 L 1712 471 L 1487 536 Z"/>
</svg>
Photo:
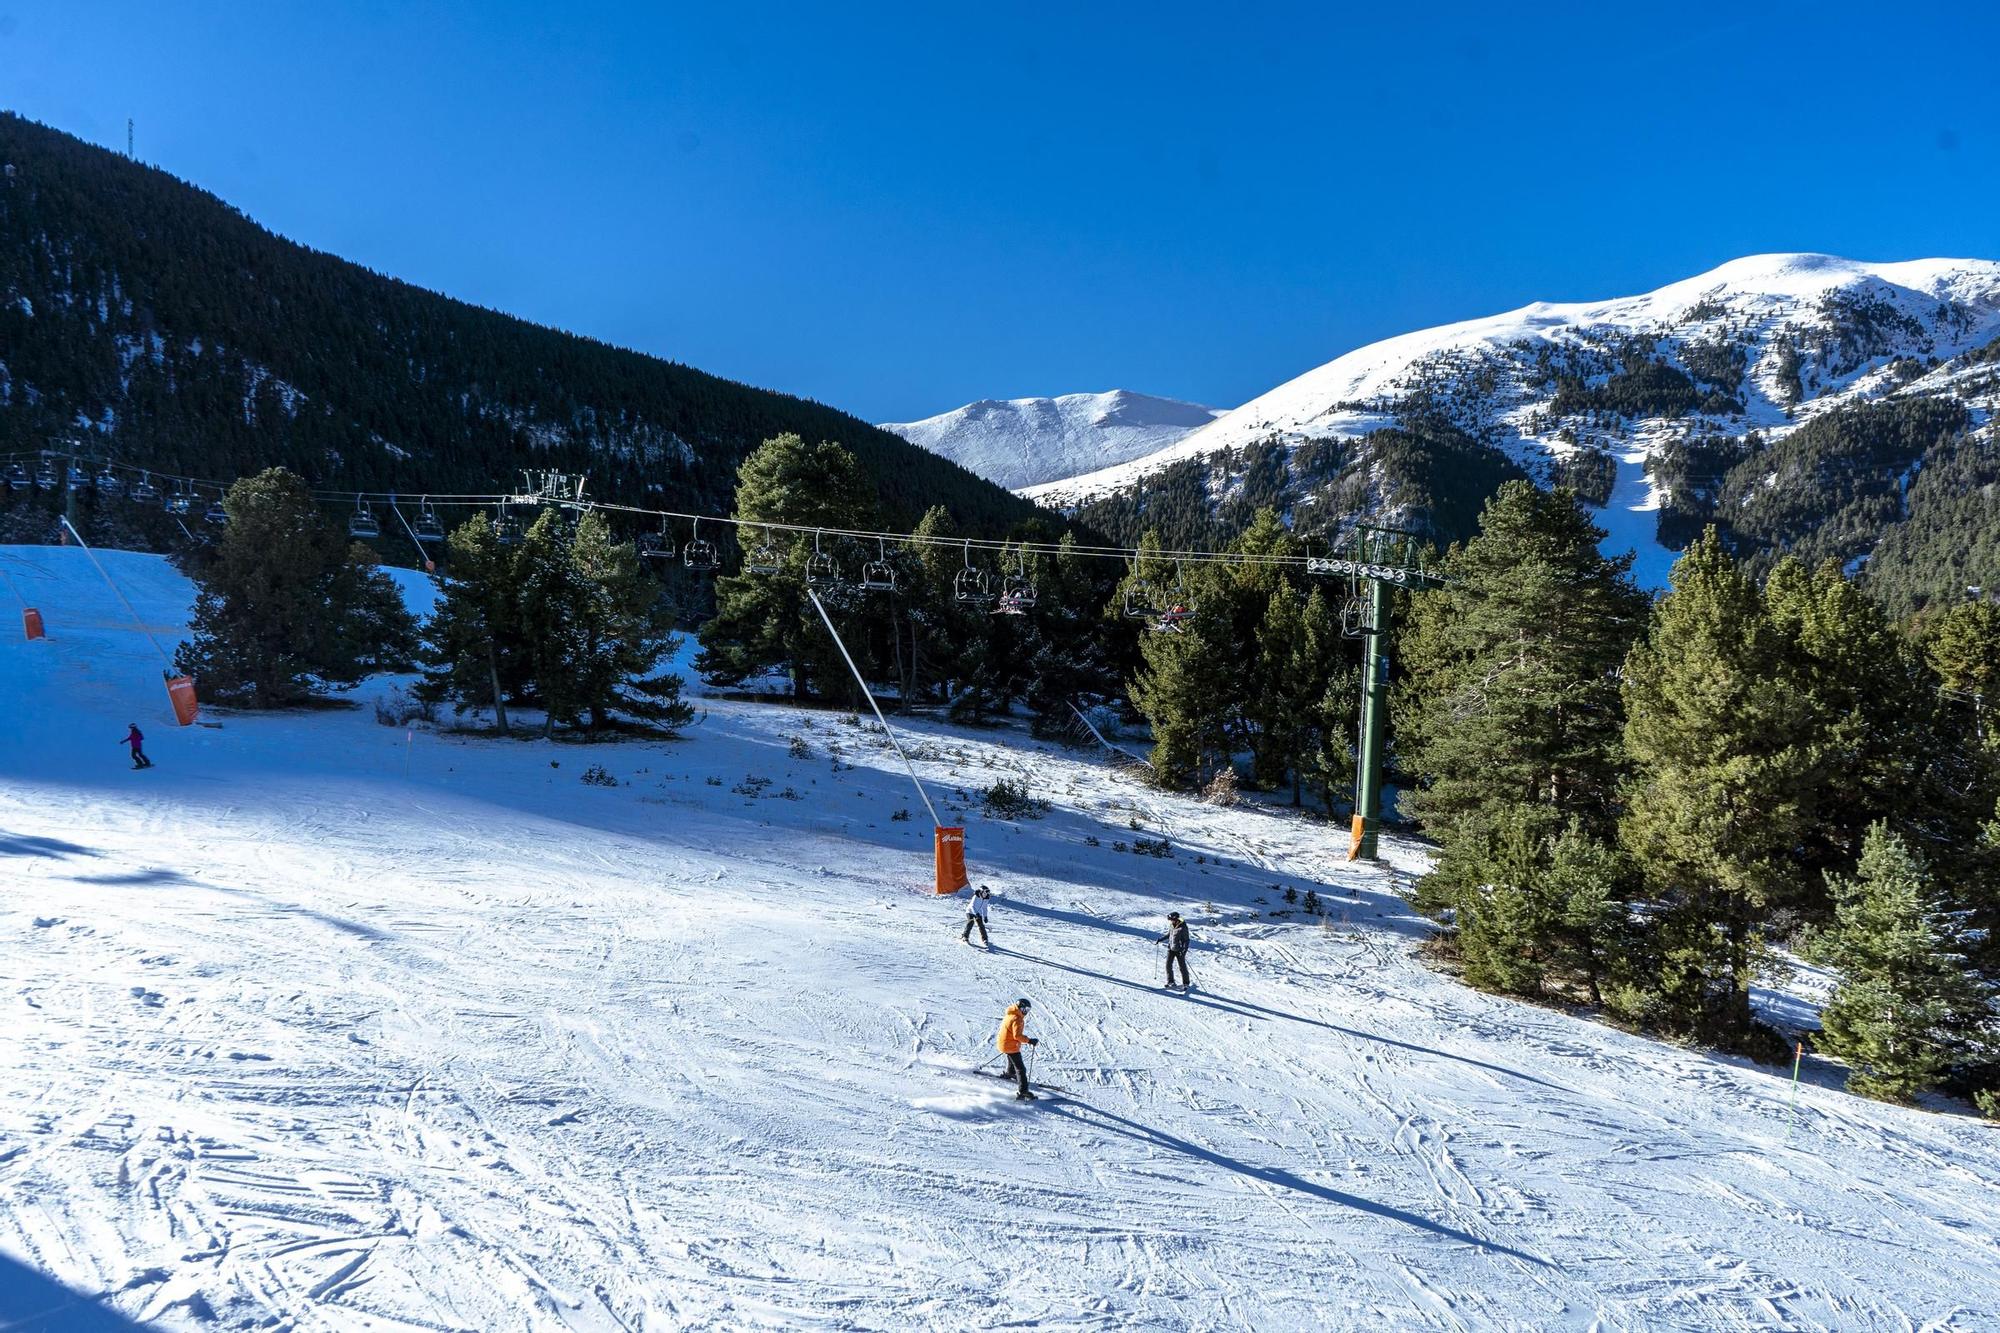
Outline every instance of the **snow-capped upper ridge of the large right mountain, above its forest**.
<svg viewBox="0 0 2000 1333">
<path fill-rule="evenodd" d="M 1532 408 L 1546 406 L 1546 372 L 1592 344 L 1624 336 L 1680 346 L 1740 348 L 1748 358 L 1742 424 L 1784 430 L 1794 418 L 1870 394 L 1872 372 L 1898 356 L 1950 358 L 1994 338 L 2000 262 L 1856 262 L 1832 254 L 1754 254 L 1644 296 L 1534 302 L 1444 324 L 1338 356 L 1224 412 L 1170 446 L 1094 472 L 1034 486 L 1044 502 L 1076 504 L 1124 490 L 1186 458 L 1264 440 L 1354 438 L 1392 424 L 1420 394 L 1444 400 L 1478 438 L 1514 452 L 1546 452 Z M 1790 410 L 1788 410 L 1790 408 Z M 1690 416 L 1696 420 L 1698 414 Z M 1538 448 L 1542 446 L 1542 448 Z M 1560 446 L 1556 454 L 1564 452 Z"/>
</svg>

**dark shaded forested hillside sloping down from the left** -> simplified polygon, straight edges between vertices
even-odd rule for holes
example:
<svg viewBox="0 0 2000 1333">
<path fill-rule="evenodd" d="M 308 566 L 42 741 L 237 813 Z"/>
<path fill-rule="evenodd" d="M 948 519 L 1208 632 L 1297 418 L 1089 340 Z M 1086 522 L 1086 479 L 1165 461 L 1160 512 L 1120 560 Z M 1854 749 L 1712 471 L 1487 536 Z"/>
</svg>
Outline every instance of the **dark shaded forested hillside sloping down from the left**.
<svg viewBox="0 0 2000 1333">
<path fill-rule="evenodd" d="M 844 444 L 882 518 L 1034 506 L 846 412 L 422 290 L 220 198 L 0 114 L 0 452 L 52 440 L 230 480 L 490 492 L 524 466 L 718 512 L 758 442 Z"/>
</svg>

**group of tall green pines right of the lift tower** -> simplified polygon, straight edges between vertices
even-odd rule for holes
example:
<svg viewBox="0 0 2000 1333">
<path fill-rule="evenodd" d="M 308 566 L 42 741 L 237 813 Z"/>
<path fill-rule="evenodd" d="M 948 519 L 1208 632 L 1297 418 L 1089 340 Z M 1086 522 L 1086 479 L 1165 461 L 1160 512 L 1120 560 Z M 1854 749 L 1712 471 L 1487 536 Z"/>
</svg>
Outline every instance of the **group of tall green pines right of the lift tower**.
<svg viewBox="0 0 2000 1333">
<path fill-rule="evenodd" d="M 1508 486 L 1402 636 L 1418 905 L 1468 981 L 1780 1053 L 1774 941 L 1842 969 L 1854 1087 L 2000 1087 L 2000 612 L 1900 628 L 1836 564 L 1716 532 L 1648 606 L 1574 496 Z"/>
</svg>

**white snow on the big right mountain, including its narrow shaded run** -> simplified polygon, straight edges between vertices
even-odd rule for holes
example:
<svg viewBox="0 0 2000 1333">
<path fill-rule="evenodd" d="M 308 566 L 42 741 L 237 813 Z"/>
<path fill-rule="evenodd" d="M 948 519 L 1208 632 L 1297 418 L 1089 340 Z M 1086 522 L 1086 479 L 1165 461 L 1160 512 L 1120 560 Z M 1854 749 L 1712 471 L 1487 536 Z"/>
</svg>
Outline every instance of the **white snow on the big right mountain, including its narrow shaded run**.
<svg viewBox="0 0 2000 1333">
<path fill-rule="evenodd" d="M 1776 398 L 1776 356 L 1768 352 L 1768 338 L 1784 334 L 1810 340 L 1830 318 L 1822 302 L 1832 292 L 1878 302 L 1876 308 L 1888 316 L 1888 340 L 1880 354 L 1842 372 L 1818 374 L 1808 356 L 1806 374 L 1818 378 L 1808 382 L 1808 400 L 1788 412 Z M 1508 452 L 1536 472 L 1548 458 L 1568 452 L 1568 446 L 1536 434 L 1534 416 L 1546 404 L 1518 382 L 1516 348 L 1608 332 L 1748 336 L 1758 360 L 1746 382 L 1746 412 L 1730 418 L 1726 428 L 1734 434 L 1758 428 L 1766 436 L 1780 436 L 1820 410 L 1842 406 L 1854 396 L 1878 394 L 1882 384 L 1868 376 L 1896 354 L 1950 358 L 2000 334 L 2000 262 L 1928 258 L 1872 264 L 1830 254 L 1754 254 L 1642 296 L 1538 300 L 1506 314 L 1424 328 L 1356 348 L 1224 412 L 1214 424 L 1158 452 L 1028 486 L 1024 494 L 1046 504 L 1074 506 L 1124 490 L 1174 462 L 1206 458 L 1226 448 L 1274 438 L 1298 442 L 1362 436 L 1392 424 L 1392 416 L 1378 410 L 1378 404 L 1394 400 L 1418 380 L 1436 378 L 1440 368 L 1450 374 L 1462 366 L 1502 370 L 1480 378 L 1480 388 L 1470 390 L 1478 402 L 1458 406 L 1480 418 L 1474 422 L 1476 434 L 1504 440 Z M 1936 374 L 1942 382 L 1944 372 Z M 1938 384 L 1920 380 L 1904 386 L 1904 392 L 1934 388 Z M 1984 410 L 1978 396 L 1970 400 L 1976 410 Z M 1682 424 L 1696 422 L 1688 418 Z M 1608 532 L 1604 550 L 1634 552 L 1634 572 L 1644 586 L 1664 586 L 1674 560 L 1674 552 L 1658 542 L 1660 496 L 1646 476 L 1648 444 L 1666 434 L 1662 422 L 1634 422 L 1630 436 L 1614 442 L 1618 482 L 1610 502 L 1596 514 Z"/>
</svg>

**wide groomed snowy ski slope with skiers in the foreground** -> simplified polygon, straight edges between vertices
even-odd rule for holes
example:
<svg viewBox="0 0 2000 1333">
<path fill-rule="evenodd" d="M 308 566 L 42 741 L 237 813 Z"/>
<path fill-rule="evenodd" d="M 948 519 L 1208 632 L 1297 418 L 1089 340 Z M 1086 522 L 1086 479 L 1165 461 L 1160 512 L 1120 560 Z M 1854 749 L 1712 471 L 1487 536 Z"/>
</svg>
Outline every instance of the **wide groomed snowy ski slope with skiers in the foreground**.
<svg viewBox="0 0 2000 1333">
<path fill-rule="evenodd" d="M 172 646 L 188 586 L 106 562 Z M 1992 1131 L 1810 1081 L 1794 1115 L 1776 1071 L 1464 991 L 1410 957 L 1412 847 L 1352 869 L 916 725 L 1000 893 L 982 953 L 836 715 L 176 731 L 78 552 L 0 566 L 52 632 L 0 636 L 0 1293 L 28 1265 L 190 1329 L 2000 1325 Z M 956 795 L 998 777 L 1054 809 Z M 1068 1089 L 1026 1107 L 970 1073 L 1016 995 Z"/>
</svg>

